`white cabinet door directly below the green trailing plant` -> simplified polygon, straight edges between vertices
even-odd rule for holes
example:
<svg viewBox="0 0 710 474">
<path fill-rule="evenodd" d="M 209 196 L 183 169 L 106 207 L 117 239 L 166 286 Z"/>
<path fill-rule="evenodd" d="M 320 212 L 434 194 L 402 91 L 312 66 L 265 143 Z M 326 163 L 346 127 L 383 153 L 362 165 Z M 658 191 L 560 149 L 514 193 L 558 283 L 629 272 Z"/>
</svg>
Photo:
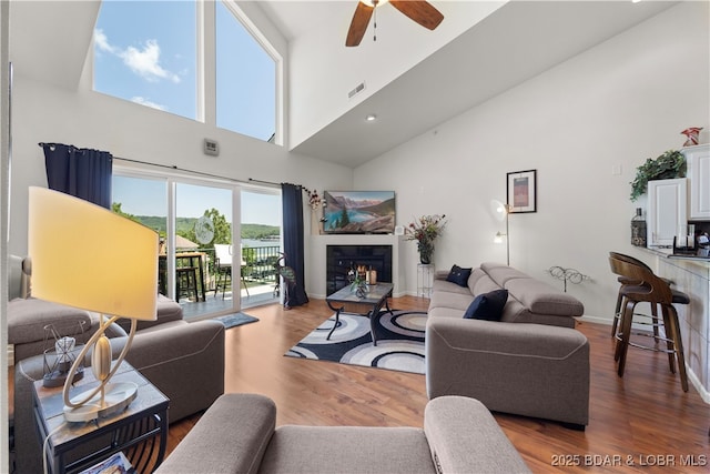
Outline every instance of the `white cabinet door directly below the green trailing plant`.
<svg viewBox="0 0 710 474">
<path fill-rule="evenodd" d="M 674 235 L 684 235 L 688 226 L 688 180 L 648 182 L 647 245 L 672 245 Z"/>
</svg>

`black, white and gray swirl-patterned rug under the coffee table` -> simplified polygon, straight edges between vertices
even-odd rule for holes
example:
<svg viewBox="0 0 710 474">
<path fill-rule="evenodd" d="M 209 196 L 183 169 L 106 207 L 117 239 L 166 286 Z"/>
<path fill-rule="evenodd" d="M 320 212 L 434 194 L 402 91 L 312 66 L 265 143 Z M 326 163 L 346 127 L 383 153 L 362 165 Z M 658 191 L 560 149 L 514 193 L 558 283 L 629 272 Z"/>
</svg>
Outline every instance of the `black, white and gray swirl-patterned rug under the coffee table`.
<svg viewBox="0 0 710 474">
<path fill-rule="evenodd" d="M 426 313 L 381 312 L 375 326 L 376 346 L 373 346 L 367 316 L 341 313 L 338 325 L 327 341 L 325 337 L 334 323 L 335 314 L 284 355 L 424 374 Z"/>
</svg>

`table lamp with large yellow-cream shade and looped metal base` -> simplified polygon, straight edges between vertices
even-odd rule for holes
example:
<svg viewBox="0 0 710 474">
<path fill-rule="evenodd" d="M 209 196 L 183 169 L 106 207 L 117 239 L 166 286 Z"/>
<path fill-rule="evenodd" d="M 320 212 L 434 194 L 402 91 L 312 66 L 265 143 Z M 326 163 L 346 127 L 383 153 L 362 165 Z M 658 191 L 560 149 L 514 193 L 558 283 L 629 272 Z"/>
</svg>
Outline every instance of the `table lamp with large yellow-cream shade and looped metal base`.
<svg viewBox="0 0 710 474">
<path fill-rule="evenodd" d="M 156 319 L 158 234 L 108 209 L 43 188 L 30 188 L 32 296 L 100 314 L 64 383 L 64 418 L 87 422 L 123 411 L 138 394 L 131 382 L 109 383 L 125 357 L 136 321 Z M 131 332 L 112 365 L 105 330 L 120 317 Z M 99 386 L 70 399 L 73 375 L 89 350 Z"/>
</svg>

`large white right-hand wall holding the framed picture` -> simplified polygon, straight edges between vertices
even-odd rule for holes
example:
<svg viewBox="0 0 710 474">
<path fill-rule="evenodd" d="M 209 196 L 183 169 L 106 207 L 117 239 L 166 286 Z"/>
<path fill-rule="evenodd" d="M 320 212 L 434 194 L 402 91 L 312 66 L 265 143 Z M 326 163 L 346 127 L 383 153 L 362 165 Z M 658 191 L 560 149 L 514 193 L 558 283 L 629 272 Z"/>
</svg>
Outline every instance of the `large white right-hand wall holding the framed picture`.
<svg viewBox="0 0 710 474">
<path fill-rule="evenodd" d="M 505 201 L 507 172 L 537 169 L 538 212 L 510 215 L 510 264 L 559 289 L 547 269 L 579 270 L 590 280 L 568 292 L 610 320 L 608 252 L 645 258 L 630 245 L 636 168 L 680 148 L 681 130 L 710 128 L 708 17 L 708 2 L 673 7 L 358 168 L 355 188 L 394 189 L 402 225 L 447 214 L 435 262 L 448 269 L 505 262 L 489 202 Z"/>
</svg>

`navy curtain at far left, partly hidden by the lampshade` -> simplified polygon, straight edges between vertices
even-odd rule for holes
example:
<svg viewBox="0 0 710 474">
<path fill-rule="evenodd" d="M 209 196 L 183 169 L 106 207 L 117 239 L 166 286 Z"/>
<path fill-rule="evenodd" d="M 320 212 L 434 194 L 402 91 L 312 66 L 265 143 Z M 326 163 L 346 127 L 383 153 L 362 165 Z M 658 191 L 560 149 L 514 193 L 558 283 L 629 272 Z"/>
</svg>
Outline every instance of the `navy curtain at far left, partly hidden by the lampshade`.
<svg viewBox="0 0 710 474">
<path fill-rule="evenodd" d="M 113 157 L 108 151 L 40 143 L 49 189 L 111 209 Z"/>
</svg>

